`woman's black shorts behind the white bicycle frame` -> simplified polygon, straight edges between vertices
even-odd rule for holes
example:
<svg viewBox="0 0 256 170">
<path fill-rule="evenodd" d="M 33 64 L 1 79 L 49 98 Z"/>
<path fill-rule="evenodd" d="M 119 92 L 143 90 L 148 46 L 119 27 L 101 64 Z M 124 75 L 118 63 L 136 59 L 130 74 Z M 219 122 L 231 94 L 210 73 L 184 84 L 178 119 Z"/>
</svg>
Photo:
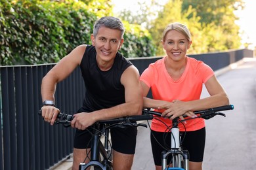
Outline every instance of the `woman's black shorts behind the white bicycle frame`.
<svg viewBox="0 0 256 170">
<path fill-rule="evenodd" d="M 205 127 L 197 131 L 186 131 L 181 133 L 181 141 L 183 150 L 188 150 L 190 154 L 190 161 L 203 161 L 203 152 L 205 147 Z M 185 135 L 184 135 L 185 134 Z M 155 165 L 161 166 L 161 152 L 164 148 L 171 147 L 171 133 L 163 133 L 152 131 L 150 135 L 152 152 Z M 161 144 L 161 145 L 160 145 Z M 164 148 L 163 148 L 163 147 Z M 168 163 L 171 162 L 169 156 Z"/>
</svg>

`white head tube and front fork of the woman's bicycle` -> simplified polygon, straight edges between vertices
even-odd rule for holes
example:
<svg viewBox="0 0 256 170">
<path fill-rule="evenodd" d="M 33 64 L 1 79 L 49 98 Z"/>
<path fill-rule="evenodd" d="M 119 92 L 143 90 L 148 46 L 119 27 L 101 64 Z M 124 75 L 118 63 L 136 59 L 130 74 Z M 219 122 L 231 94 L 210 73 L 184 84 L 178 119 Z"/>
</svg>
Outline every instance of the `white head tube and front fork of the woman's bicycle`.
<svg viewBox="0 0 256 170">
<path fill-rule="evenodd" d="M 171 150 L 168 152 L 163 151 L 161 153 L 161 169 L 171 170 L 175 168 L 167 169 L 167 157 L 172 156 L 173 167 L 182 167 L 184 170 L 188 170 L 189 153 L 188 150 L 181 150 L 180 148 L 180 131 L 177 120 L 173 120 L 173 127 L 171 128 Z M 183 160 L 183 162 L 182 162 Z M 182 170 L 182 169 L 181 169 Z"/>
</svg>

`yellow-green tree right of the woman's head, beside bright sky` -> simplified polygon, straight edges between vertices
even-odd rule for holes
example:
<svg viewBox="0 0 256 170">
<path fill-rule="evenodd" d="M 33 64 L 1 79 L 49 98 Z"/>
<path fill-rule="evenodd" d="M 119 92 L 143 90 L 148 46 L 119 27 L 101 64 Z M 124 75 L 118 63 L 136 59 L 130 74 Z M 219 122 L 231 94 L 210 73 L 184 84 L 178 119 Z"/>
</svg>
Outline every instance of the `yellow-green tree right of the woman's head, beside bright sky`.
<svg viewBox="0 0 256 170">
<path fill-rule="evenodd" d="M 204 32 L 210 39 L 208 51 L 240 47 L 240 27 L 235 24 L 238 18 L 235 16 L 234 10 L 244 7 L 242 0 L 184 0 L 182 10 L 186 10 L 190 6 L 196 9 L 197 16 L 200 16 L 199 22 L 208 27 Z"/>
</svg>

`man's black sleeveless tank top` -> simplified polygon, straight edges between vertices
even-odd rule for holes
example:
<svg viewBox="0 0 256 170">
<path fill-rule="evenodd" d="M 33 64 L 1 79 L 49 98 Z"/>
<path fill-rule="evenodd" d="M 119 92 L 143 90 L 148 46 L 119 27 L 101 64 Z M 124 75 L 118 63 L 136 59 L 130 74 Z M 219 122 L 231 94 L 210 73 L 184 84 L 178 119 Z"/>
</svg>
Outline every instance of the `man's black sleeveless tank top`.
<svg viewBox="0 0 256 170">
<path fill-rule="evenodd" d="M 95 46 L 88 45 L 80 64 L 86 88 L 81 109 L 92 112 L 125 103 L 125 89 L 120 80 L 123 71 L 131 65 L 131 61 L 117 52 L 112 68 L 101 71 L 96 63 Z"/>
</svg>

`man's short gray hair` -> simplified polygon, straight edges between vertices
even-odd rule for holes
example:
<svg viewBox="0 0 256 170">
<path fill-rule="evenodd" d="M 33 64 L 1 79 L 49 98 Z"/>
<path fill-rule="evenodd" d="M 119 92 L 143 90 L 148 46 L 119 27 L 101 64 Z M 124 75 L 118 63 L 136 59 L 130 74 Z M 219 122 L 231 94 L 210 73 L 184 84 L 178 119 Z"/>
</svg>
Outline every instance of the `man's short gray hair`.
<svg viewBox="0 0 256 170">
<path fill-rule="evenodd" d="M 93 27 L 94 37 L 96 37 L 96 35 L 98 34 L 98 29 L 100 29 L 100 27 L 102 26 L 108 27 L 110 29 L 119 29 L 121 31 L 121 39 L 123 38 L 123 34 L 125 33 L 125 27 L 123 27 L 123 23 L 118 18 L 114 16 L 104 16 L 97 20 Z"/>
</svg>

